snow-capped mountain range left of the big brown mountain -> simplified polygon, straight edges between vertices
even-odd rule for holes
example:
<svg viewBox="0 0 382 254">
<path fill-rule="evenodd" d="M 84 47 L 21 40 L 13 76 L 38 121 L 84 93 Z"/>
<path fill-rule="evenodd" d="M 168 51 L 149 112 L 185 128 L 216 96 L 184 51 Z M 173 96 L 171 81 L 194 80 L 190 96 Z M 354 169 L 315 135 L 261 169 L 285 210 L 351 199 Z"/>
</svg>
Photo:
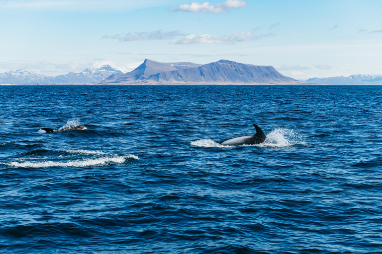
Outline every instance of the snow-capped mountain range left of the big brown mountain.
<svg viewBox="0 0 382 254">
<path fill-rule="evenodd" d="M 56 77 L 18 69 L 0 73 L 0 84 L 92 84 L 115 73 L 123 74 L 111 65 L 90 67 L 80 73 L 69 72 Z"/>
</svg>

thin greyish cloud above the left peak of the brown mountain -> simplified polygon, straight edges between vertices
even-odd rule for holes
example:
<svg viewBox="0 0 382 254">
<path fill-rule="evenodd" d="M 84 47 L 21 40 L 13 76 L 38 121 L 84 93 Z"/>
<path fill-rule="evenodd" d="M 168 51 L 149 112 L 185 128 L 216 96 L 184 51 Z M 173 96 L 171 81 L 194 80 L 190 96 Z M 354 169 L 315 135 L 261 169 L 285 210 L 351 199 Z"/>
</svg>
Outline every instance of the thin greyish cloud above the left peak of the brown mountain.
<svg viewBox="0 0 382 254">
<path fill-rule="evenodd" d="M 171 40 L 178 36 L 182 36 L 179 31 L 162 32 L 161 30 L 153 32 L 127 33 L 124 35 L 116 34 L 112 36 L 102 36 L 101 39 L 117 39 L 121 42 L 131 41 L 154 41 L 154 40 Z"/>
</svg>

